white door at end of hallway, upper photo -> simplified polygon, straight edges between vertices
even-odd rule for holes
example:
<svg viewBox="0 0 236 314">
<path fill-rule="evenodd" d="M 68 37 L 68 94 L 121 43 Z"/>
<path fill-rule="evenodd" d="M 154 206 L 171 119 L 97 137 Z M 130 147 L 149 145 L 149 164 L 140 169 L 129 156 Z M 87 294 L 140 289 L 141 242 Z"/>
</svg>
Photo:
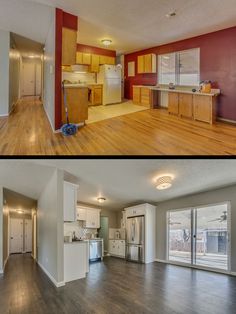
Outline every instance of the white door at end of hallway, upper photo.
<svg viewBox="0 0 236 314">
<path fill-rule="evenodd" d="M 23 65 L 23 96 L 34 96 L 36 85 L 35 64 L 24 63 Z"/>
</svg>

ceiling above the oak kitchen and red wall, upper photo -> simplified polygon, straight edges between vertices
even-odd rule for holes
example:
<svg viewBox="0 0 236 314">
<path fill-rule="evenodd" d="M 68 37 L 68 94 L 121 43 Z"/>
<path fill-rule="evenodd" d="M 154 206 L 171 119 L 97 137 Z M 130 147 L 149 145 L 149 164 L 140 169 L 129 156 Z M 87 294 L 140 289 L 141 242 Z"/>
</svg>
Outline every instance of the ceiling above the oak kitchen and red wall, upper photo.
<svg viewBox="0 0 236 314">
<path fill-rule="evenodd" d="M 118 53 L 236 25 L 236 0 L 30 1 L 59 7 L 78 15 L 80 43 L 100 46 L 101 39 L 108 37 L 113 40 L 111 49 Z M 167 19 L 165 15 L 173 10 L 176 10 L 177 16 Z"/>
</svg>

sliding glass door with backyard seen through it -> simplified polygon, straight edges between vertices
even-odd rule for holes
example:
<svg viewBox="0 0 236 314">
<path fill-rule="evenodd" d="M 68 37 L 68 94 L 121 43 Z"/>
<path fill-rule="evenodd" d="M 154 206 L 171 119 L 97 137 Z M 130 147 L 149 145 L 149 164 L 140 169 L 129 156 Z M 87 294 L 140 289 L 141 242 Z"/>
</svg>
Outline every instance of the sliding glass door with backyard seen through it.
<svg viewBox="0 0 236 314">
<path fill-rule="evenodd" d="M 228 203 L 168 212 L 168 259 L 229 270 Z"/>
</svg>

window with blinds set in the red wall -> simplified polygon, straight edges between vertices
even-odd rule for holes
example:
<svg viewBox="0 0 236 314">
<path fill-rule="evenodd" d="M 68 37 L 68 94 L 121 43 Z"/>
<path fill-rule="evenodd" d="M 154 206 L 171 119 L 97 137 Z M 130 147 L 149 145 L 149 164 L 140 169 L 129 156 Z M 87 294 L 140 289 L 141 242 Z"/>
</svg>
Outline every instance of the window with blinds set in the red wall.
<svg viewBox="0 0 236 314">
<path fill-rule="evenodd" d="M 159 84 L 196 86 L 200 82 L 200 49 L 158 56 Z"/>
</svg>

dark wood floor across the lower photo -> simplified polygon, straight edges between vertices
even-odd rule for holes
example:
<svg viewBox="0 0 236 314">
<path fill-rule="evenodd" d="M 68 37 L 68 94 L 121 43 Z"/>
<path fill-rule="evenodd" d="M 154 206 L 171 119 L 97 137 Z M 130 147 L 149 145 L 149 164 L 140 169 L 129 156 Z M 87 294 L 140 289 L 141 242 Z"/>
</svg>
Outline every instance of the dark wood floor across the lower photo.
<svg viewBox="0 0 236 314">
<path fill-rule="evenodd" d="M 0 313 L 236 313 L 236 278 L 107 257 L 86 279 L 56 289 L 29 255 L 0 277 Z"/>
</svg>

